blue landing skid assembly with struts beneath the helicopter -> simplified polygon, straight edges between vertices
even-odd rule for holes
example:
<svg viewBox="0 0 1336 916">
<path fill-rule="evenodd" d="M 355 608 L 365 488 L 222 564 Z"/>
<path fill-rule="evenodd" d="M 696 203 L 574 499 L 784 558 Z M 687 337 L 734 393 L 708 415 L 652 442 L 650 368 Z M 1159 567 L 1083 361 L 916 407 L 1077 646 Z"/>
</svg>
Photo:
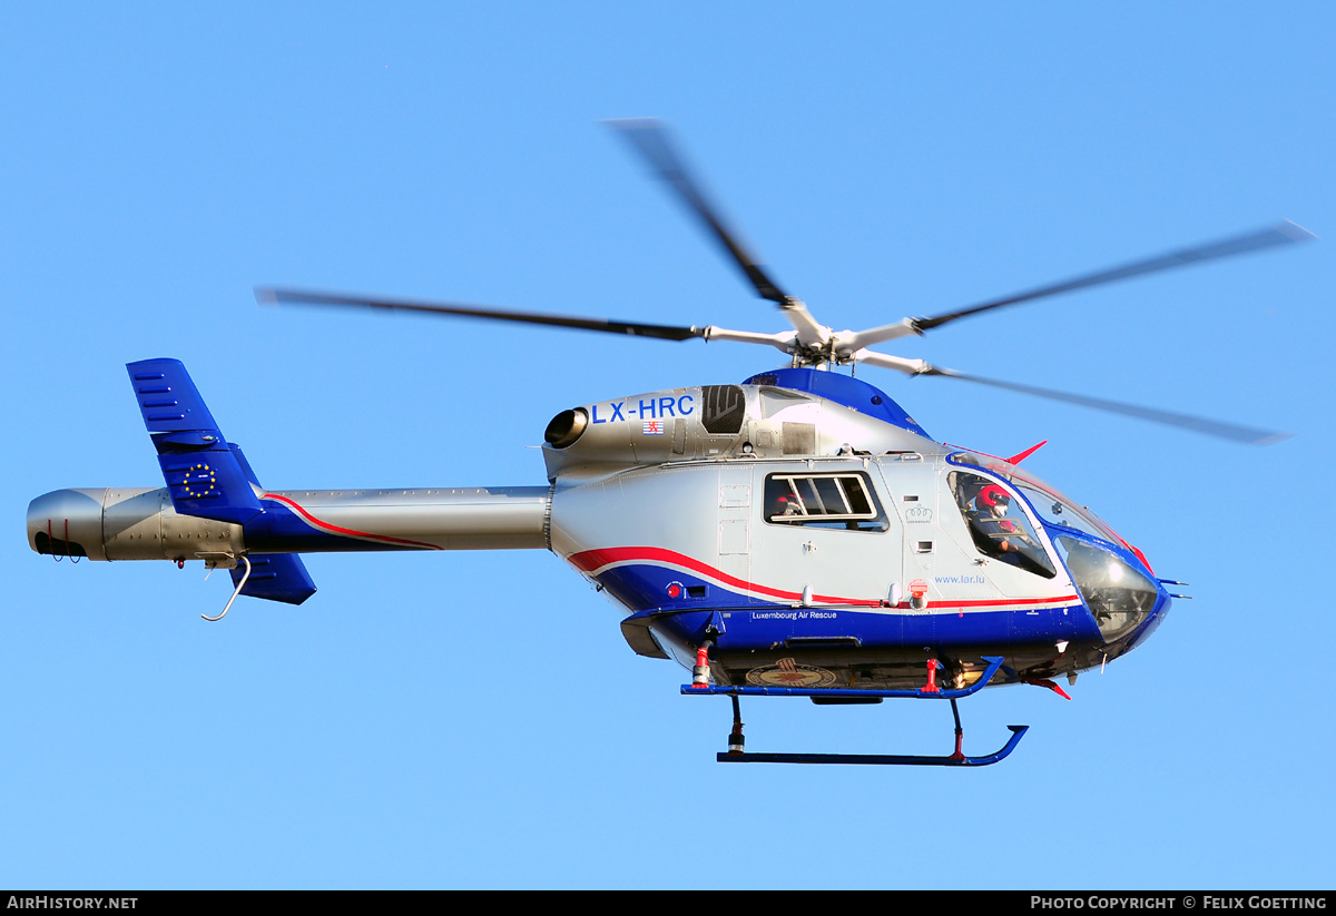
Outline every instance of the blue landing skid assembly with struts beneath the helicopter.
<svg viewBox="0 0 1336 916">
<path fill-rule="evenodd" d="M 728 750 L 715 756 L 720 764 L 871 764 L 880 766 L 987 766 L 999 760 L 1006 760 L 1015 745 L 1030 729 L 1029 725 L 1007 725 L 1011 737 L 1001 749 L 983 757 L 967 757 L 961 749 L 965 741 L 965 729 L 961 726 L 961 710 L 955 705 L 958 697 L 969 696 L 981 690 L 1002 666 L 1002 660 L 995 657 L 985 658 L 989 662 L 987 670 L 971 686 L 962 690 L 941 690 L 935 686 L 931 674 L 929 685 L 921 690 L 820 690 L 800 688 L 748 688 L 748 686 L 708 686 L 683 685 L 681 692 L 687 694 L 725 693 L 733 701 L 733 730 L 728 736 Z M 931 672 L 931 669 L 930 669 Z M 831 696 L 831 694 L 858 694 L 859 697 L 914 697 L 919 700 L 950 700 L 951 716 L 955 718 L 955 753 L 943 757 L 919 754 L 790 754 L 790 753 L 747 753 L 745 737 L 743 736 L 741 706 L 739 696 Z"/>
</svg>

